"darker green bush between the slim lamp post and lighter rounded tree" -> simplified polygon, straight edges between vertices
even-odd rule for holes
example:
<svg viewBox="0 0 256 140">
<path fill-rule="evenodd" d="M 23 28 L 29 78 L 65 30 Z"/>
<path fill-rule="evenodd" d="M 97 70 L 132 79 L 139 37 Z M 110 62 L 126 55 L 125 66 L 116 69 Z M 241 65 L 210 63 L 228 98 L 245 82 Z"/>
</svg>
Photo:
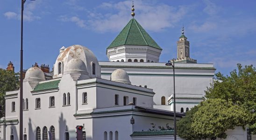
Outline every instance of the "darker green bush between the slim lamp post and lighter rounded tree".
<svg viewBox="0 0 256 140">
<path fill-rule="evenodd" d="M 186 140 L 197 140 L 199 137 L 193 132 L 192 122 L 198 106 L 194 106 L 190 111 L 186 112 L 186 116 L 177 122 L 177 134 L 180 138 Z"/>
</svg>

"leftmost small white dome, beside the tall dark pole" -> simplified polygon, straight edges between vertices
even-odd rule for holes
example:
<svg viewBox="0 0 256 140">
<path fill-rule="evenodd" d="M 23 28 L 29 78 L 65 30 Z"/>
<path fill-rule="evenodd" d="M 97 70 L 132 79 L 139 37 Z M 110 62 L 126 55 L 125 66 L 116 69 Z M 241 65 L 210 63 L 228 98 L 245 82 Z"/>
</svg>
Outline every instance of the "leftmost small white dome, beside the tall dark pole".
<svg viewBox="0 0 256 140">
<path fill-rule="evenodd" d="M 24 80 L 27 80 L 27 81 L 44 81 L 45 77 L 44 77 L 44 73 L 41 69 L 39 69 L 37 67 L 32 67 L 32 68 L 29 68 L 26 71 Z"/>
</svg>

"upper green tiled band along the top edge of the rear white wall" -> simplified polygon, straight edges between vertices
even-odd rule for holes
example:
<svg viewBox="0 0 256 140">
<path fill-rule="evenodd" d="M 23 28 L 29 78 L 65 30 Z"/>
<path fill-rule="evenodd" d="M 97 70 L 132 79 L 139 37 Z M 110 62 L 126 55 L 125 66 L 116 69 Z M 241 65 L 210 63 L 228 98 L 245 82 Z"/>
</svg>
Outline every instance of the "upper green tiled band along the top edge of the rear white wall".
<svg viewBox="0 0 256 140">
<path fill-rule="evenodd" d="M 130 68 L 130 69 L 172 69 L 168 66 L 121 66 L 121 65 L 100 65 L 101 68 Z M 181 70 L 216 70 L 214 67 L 175 67 Z"/>
</svg>

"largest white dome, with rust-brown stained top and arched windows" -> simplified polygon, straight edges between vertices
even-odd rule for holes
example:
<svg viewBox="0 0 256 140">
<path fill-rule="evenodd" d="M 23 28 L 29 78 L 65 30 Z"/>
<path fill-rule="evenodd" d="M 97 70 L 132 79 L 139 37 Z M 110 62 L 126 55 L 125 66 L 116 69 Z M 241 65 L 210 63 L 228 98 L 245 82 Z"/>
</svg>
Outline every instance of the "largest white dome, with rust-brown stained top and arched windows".
<svg viewBox="0 0 256 140">
<path fill-rule="evenodd" d="M 77 69 L 78 73 L 86 73 L 90 78 L 100 77 L 100 65 L 96 56 L 90 49 L 81 45 L 72 45 L 60 52 L 54 64 L 53 77 L 62 77 L 62 74 L 70 73 L 71 68 Z"/>
</svg>

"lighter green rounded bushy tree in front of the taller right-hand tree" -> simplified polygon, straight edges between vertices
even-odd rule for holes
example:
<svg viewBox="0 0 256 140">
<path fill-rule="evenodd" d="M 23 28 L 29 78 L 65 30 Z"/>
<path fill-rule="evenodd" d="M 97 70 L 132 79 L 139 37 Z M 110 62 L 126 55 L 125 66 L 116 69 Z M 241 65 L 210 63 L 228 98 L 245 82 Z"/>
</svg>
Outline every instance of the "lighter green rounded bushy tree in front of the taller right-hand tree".
<svg viewBox="0 0 256 140">
<path fill-rule="evenodd" d="M 249 113 L 242 106 L 223 99 L 207 99 L 201 102 L 193 115 L 191 127 L 199 139 L 227 138 L 225 133 L 235 126 L 246 126 Z"/>
</svg>

